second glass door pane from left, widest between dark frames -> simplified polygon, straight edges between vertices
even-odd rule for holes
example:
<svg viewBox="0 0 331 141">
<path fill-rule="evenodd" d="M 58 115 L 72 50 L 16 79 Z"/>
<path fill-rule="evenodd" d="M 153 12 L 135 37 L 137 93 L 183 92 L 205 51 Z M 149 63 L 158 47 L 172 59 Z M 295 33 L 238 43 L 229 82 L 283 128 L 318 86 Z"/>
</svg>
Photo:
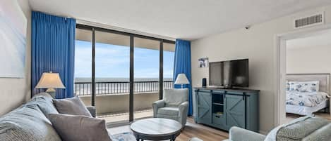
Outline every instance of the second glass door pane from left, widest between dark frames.
<svg viewBox="0 0 331 141">
<path fill-rule="evenodd" d="M 129 121 L 130 36 L 95 31 L 95 106 L 108 123 Z"/>
</svg>

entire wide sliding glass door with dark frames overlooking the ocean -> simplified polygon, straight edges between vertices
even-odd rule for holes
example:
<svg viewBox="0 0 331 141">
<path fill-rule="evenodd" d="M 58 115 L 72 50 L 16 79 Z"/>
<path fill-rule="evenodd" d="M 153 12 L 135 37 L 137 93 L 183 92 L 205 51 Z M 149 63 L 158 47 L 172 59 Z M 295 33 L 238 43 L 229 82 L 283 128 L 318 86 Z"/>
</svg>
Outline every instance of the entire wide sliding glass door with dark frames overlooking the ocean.
<svg viewBox="0 0 331 141">
<path fill-rule="evenodd" d="M 152 116 L 172 88 L 174 41 L 77 25 L 75 94 L 107 123 Z"/>
</svg>

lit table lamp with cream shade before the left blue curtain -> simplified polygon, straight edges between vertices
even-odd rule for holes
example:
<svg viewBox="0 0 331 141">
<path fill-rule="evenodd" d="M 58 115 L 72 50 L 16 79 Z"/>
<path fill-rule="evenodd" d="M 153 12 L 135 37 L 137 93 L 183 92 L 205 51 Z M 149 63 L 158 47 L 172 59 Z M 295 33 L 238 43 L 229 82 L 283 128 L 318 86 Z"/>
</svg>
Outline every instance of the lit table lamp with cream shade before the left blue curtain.
<svg viewBox="0 0 331 141">
<path fill-rule="evenodd" d="M 46 92 L 55 98 L 56 90 L 54 88 L 66 88 L 64 83 L 62 83 L 59 73 L 44 72 L 42 73 L 42 78 L 38 82 L 35 88 L 47 88 Z"/>
</svg>

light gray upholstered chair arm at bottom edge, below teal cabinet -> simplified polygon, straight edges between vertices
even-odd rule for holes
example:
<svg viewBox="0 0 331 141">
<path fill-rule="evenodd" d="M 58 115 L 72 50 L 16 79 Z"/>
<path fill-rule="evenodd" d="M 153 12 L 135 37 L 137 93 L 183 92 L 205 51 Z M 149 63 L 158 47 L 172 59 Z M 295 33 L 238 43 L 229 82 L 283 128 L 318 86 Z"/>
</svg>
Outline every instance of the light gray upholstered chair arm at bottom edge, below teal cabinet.
<svg viewBox="0 0 331 141">
<path fill-rule="evenodd" d="M 255 133 L 251 130 L 246 130 L 243 128 L 238 128 L 236 126 L 231 127 L 229 131 L 229 140 L 232 141 L 263 141 L 265 140 L 265 135 Z"/>
</svg>

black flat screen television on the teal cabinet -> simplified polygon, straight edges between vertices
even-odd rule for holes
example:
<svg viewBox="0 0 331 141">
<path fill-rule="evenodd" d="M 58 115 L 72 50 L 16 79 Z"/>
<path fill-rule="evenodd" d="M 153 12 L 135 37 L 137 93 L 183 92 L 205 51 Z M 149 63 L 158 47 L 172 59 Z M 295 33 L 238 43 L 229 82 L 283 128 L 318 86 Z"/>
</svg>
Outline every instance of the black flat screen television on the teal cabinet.
<svg viewBox="0 0 331 141">
<path fill-rule="evenodd" d="M 210 62 L 209 86 L 248 87 L 248 59 Z"/>
</svg>

